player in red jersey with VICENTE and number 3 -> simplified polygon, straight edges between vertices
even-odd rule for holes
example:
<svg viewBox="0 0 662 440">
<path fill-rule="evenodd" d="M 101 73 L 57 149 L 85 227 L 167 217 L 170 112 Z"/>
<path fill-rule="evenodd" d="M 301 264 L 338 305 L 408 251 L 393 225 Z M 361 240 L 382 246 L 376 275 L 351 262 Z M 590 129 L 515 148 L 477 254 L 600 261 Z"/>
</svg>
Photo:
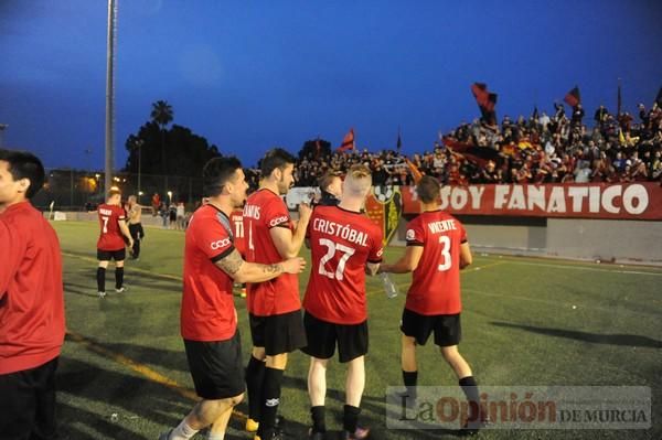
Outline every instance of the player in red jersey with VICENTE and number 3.
<svg viewBox="0 0 662 440">
<path fill-rule="evenodd" d="M 418 368 L 416 345 L 425 345 L 435 332 L 435 344 L 459 379 L 470 403 L 469 422 L 478 422 L 478 386 L 471 367 L 458 351 L 461 337 L 460 269 L 472 261 L 467 233 L 460 222 L 439 207 L 439 182 L 424 176 L 416 186 L 423 213 L 407 225 L 407 250 L 394 265 L 380 271 L 413 272 L 401 330 L 403 379 L 408 404 L 416 400 Z"/>
</svg>

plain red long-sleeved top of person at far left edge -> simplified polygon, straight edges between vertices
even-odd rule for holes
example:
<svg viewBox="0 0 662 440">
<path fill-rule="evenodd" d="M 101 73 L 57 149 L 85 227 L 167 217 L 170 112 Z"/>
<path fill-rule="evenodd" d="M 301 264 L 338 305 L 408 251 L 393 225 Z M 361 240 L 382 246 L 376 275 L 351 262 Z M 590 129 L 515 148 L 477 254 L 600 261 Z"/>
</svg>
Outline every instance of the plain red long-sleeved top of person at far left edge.
<svg viewBox="0 0 662 440">
<path fill-rule="evenodd" d="M 29 202 L 0 214 L 0 261 L 2 375 L 54 359 L 64 342 L 60 242 Z"/>
</svg>

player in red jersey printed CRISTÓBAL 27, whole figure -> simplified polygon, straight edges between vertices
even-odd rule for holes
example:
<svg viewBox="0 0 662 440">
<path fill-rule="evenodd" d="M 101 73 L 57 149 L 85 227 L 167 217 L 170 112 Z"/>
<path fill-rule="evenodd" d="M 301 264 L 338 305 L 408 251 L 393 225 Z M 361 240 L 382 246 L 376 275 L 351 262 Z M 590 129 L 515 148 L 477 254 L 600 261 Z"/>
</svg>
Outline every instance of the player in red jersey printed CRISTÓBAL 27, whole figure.
<svg viewBox="0 0 662 440">
<path fill-rule="evenodd" d="M 382 230 L 361 213 L 371 185 L 370 169 L 353 165 L 342 185 L 340 204 L 317 206 L 308 224 L 314 266 L 303 298 L 308 339 L 303 352 L 311 356 L 308 373 L 311 439 L 322 440 L 327 431 L 327 364 L 335 345 L 339 361 L 348 364 L 341 438 L 369 436 L 366 428 L 357 427 L 367 353 L 365 273 L 377 272 L 383 253 Z"/>
</svg>

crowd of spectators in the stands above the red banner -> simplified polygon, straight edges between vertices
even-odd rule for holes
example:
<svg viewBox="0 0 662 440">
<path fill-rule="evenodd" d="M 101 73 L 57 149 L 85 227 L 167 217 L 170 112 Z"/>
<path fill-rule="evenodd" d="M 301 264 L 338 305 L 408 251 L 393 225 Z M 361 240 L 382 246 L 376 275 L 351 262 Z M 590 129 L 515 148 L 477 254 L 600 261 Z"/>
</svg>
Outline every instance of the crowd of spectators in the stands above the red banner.
<svg viewBox="0 0 662 440">
<path fill-rule="evenodd" d="M 444 184 L 662 182 L 662 108 L 639 105 L 639 114 L 612 115 L 600 106 L 590 120 L 581 105 L 569 109 L 555 104 L 552 115 L 504 116 L 500 125 L 476 119 L 444 135 L 463 144 L 499 152 L 494 160 L 477 161 L 447 148 L 440 139 L 431 151 L 408 159 Z M 476 150 L 476 149 L 474 149 Z M 316 186 L 329 170 L 346 171 L 367 163 L 375 185 L 413 183 L 404 155 L 397 151 L 350 150 L 316 157 L 309 153 L 296 168 L 298 186 Z M 256 186 L 258 173 L 252 175 Z"/>
</svg>

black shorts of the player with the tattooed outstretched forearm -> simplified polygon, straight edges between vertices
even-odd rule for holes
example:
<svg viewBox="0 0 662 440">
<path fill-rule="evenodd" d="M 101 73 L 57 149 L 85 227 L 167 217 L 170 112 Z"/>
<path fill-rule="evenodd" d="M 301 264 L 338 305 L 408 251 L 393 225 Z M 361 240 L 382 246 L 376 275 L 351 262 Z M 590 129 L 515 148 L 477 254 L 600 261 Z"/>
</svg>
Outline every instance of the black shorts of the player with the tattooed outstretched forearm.
<svg viewBox="0 0 662 440">
<path fill-rule="evenodd" d="M 244 393 L 242 339 L 237 331 L 226 341 L 184 340 L 195 393 L 207 400 L 226 399 Z"/>
</svg>

